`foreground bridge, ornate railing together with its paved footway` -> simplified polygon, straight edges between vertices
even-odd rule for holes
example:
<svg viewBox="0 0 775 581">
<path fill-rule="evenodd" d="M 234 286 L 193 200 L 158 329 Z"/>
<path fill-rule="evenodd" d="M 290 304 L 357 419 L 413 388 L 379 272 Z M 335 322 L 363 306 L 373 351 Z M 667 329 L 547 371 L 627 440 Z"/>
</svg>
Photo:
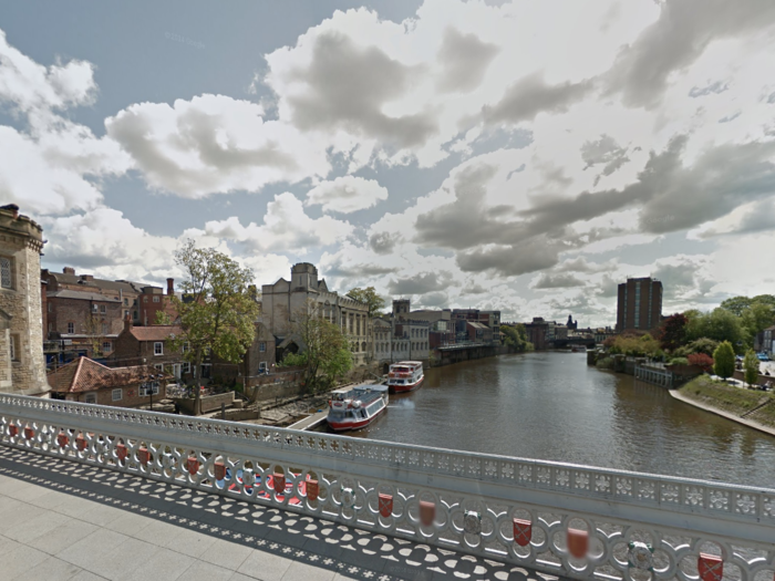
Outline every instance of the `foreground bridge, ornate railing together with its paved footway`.
<svg viewBox="0 0 775 581">
<path fill-rule="evenodd" d="M 0 561 L 20 568 L 34 550 L 110 579 L 775 579 L 769 488 L 8 394 L 0 477 Z M 100 529 L 46 553 L 52 518 Z"/>
</svg>

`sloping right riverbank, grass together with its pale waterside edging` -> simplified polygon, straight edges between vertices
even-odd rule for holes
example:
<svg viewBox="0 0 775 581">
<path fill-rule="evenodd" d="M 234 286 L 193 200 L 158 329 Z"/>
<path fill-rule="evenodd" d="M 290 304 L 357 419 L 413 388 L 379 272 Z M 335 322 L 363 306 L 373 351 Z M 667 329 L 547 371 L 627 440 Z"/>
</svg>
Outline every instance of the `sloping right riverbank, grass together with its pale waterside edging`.
<svg viewBox="0 0 775 581">
<path fill-rule="evenodd" d="M 775 436 L 775 396 L 700 376 L 670 395 L 689 405 Z"/>
</svg>

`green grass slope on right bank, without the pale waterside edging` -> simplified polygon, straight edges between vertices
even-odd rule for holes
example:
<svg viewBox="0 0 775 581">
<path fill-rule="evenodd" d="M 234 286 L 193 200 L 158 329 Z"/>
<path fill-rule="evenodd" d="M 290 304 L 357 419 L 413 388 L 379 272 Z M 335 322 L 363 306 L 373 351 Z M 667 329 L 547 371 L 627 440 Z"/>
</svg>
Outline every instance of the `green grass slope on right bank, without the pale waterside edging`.
<svg viewBox="0 0 775 581">
<path fill-rule="evenodd" d="M 742 416 L 756 406 L 771 402 L 746 416 L 746 419 L 775 427 L 775 397 L 771 393 L 742 390 L 721 381 L 711 380 L 705 375 L 695 377 L 681 387 L 679 393 L 690 400 L 736 416 Z"/>
</svg>

